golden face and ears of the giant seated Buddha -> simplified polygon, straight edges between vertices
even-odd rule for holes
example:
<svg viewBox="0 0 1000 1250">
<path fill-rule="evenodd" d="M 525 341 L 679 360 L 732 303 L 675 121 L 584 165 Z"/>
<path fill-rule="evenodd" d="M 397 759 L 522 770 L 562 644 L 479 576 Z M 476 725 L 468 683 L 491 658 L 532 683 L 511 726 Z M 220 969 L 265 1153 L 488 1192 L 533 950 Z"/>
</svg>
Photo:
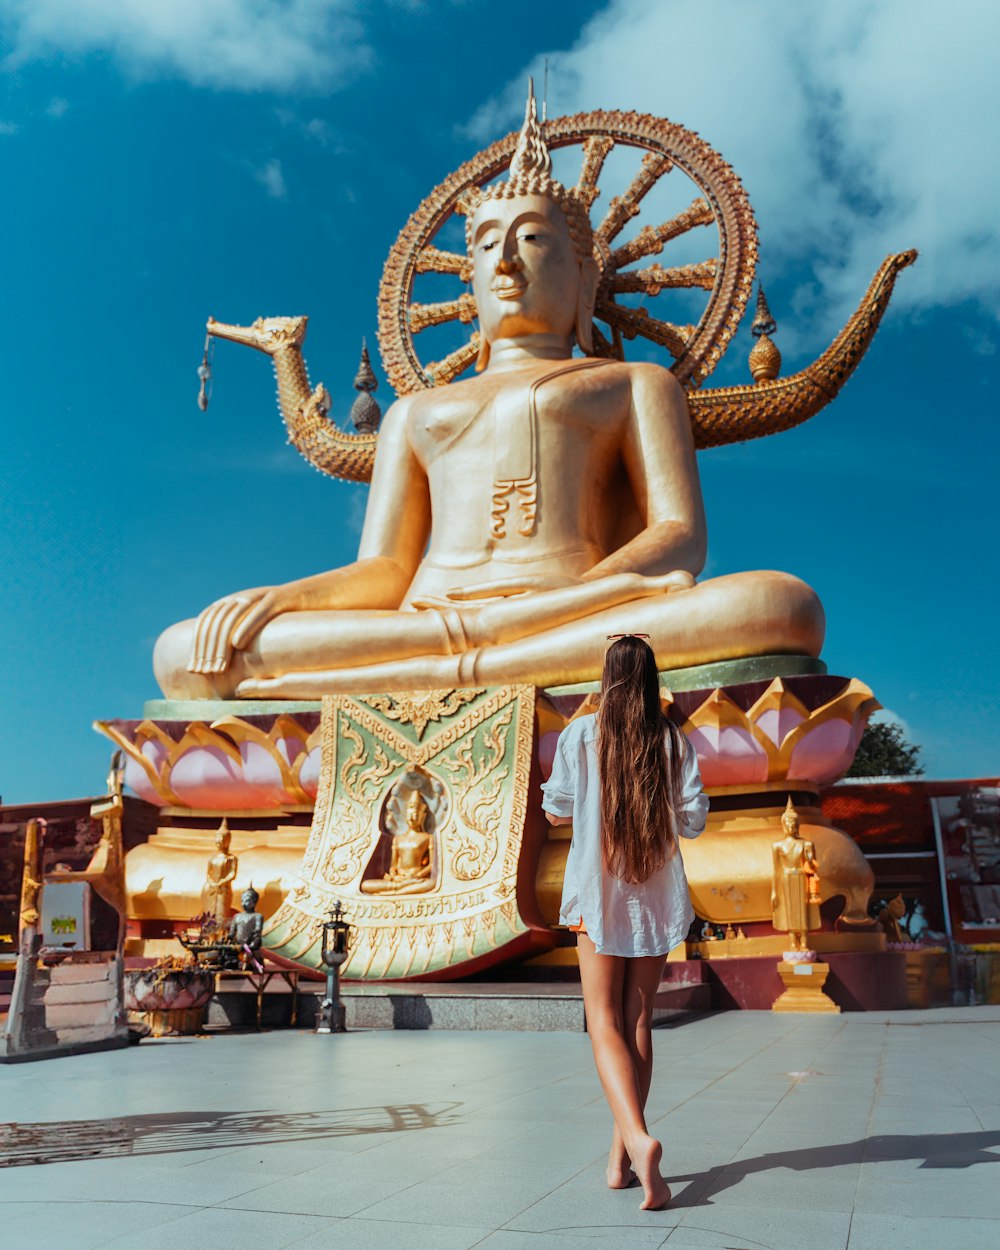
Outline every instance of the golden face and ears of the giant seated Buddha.
<svg viewBox="0 0 1000 1250">
<path fill-rule="evenodd" d="M 576 335 L 590 348 L 598 265 L 580 260 L 566 215 L 548 195 L 490 198 L 471 221 L 472 292 L 486 342 Z"/>
</svg>

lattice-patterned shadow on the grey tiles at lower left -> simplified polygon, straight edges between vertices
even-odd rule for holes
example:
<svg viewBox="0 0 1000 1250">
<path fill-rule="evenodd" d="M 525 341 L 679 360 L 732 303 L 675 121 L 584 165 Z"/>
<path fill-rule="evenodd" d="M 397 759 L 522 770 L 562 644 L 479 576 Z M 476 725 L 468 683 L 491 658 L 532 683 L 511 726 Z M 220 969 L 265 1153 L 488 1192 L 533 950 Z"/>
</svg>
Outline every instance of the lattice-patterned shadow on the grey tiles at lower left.
<svg viewBox="0 0 1000 1250">
<path fill-rule="evenodd" d="M 310 1141 L 368 1132 L 440 1129 L 456 1120 L 461 1102 L 428 1106 L 361 1106 L 339 1111 L 169 1111 L 110 1120 L 0 1124 L 0 1168 L 61 1164 L 80 1159 L 160 1155 L 179 1150 Z"/>
</svg>

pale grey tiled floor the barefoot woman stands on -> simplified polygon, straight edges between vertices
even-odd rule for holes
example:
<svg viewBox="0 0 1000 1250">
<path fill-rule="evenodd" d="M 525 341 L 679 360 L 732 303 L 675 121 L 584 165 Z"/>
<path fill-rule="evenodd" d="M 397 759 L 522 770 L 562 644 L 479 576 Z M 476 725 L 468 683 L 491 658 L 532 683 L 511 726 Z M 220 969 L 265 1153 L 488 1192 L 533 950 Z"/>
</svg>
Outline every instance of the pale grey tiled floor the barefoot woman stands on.
<svg viewBox="0 0 1000 1250">
<path fill-rule="evenodd" d="M 1000 1246 L 1000 1009 L 729 1012 L 655 1044 L 659 1212 L 604 1186 L 578 1034 L 281 1031 L 0 1068 L 0 1246 Z"/>
</svg>

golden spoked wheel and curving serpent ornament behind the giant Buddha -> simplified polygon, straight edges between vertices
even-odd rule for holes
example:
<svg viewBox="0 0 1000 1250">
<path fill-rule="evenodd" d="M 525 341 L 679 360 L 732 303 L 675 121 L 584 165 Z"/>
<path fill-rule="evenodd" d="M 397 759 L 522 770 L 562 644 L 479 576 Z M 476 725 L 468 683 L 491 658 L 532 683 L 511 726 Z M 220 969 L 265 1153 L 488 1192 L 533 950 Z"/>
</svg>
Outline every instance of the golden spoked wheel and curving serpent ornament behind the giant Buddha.
<svg viewBox="0 0 1000 1250">
<path fill-rule="evenodd" d="M 896 275 L 912 264 L 916 251 L 899 252 L 882 261 L 852 316 L 806 369 L 746 386 L 701 389 L 740 324 L 756 272 L 756 222 L 739 178 L 709 144 L 664 118 L 581 112 L 544 122 L 542 132 L 550 150 L 580 149 L 575 191 L 591 214 L 611 150 L 619 145 L 642 152 L 626 190 L 611 200 L 594 225 L 601 266 L 594 309 L 594 352 L 624 359 L 625 341 L 636 338 L 665 349 L 672 358 L 671 371 L 688 390 L 695 446 L 721 446 L 792 429 L 836 398 L 879 328 Z M 479 334 L 472 328 L 476 304 L 469 289 L 471 259 L 465 250 L 451 251 L 438 244 L 442 234 L 460 234 L 455 230 L 456 218 L 460 221 L 465 216 L 478 188 L 506 171 L 518 138 L 519 131 L 511 131 L 436 186 L 389 252 L 379 289 L 379 348 L 398 395 L 446 385 L 475 364 Z M 616 245 L 624 228 L 640 216 L 642 200 L 672 170 L 694 184 L 690 204 L 665 221 L 644 225 Z M 694 264 L 641 264 L 690 231 L 711 225 L 716 230 L 715 246 L 705 250 L 715 255 Z M 415 280 L 424 274 L 450 278 L 456 284 L 455 294 L 436 302 L 414 302 Z M 640 295 L 648 302 L 665 291 L 698 289 L 706 292 L 706 304 L 696 325 L 680 325 L 654 316 L 646 308 L 620 301 L 620 296 Z M 261 318 L 252 326 L 230 326 L 210 320 L 208 330 L 210 335 L 248 344 L 271 356 L 289 441 L 310 464 L 332 478 L 369 481 L 378 434 L 349 434 L 329 419 L 329 394 L 322 384 L 310 386 L 301 355 L 306 321 L 306 318 Z M 469 339 L 440 360 L 424 362 L 418 352 L 418 336 L 450 324 L 470 326 Z"/>
</svg>

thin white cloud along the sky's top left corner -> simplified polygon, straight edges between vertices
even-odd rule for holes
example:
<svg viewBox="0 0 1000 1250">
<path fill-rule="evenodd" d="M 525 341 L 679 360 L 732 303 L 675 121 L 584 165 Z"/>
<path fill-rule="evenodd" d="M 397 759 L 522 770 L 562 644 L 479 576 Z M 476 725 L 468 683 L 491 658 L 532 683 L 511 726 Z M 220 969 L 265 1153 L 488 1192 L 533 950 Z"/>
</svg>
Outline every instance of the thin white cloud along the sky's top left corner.
<svg viewBox="0 0 1000 1250">
<path fill-rule="evenodd" d="M 6 65 L 96 52 L 140 80 L 326 92 L 369 61 L 354 8 L 351 0 L 6 0 Z"/>
</svg>

